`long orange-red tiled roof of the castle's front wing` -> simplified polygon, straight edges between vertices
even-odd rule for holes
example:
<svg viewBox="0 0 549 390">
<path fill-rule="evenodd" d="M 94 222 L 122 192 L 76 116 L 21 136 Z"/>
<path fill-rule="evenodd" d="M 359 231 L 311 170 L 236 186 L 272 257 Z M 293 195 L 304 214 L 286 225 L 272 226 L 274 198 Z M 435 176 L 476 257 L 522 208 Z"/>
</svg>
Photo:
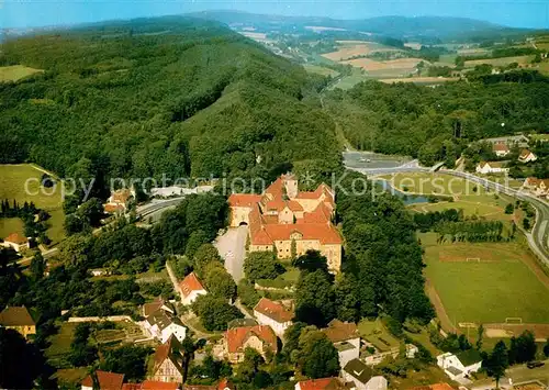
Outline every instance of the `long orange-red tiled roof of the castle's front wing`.
<svg viewBox="0 0 549 390">
<path fill-rule="evenodd" d="M 270 245 L 276 241 L 289 241 L 292 233 L 299 233 L 302 239 L 317 239 L 321 244 L 341 244 L 341 237 L 329 223 L 266 224 L 250 229 L 250 243 Z"/>
</svg>

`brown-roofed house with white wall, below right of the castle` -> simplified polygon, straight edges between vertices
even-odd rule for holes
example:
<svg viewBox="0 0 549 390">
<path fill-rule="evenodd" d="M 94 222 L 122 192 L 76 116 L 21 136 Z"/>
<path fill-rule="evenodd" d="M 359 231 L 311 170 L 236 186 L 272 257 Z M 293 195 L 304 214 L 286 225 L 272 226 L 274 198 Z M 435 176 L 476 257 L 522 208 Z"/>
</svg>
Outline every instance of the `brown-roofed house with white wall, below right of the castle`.
<svg viewBox="0 0 549 390">
<path fill-rule="evenodd" d="M 358 359 L 360 356 L 360 336 L 357 325 L 351 322 L 343 322 L 332 320 L 328 327 L 322 332 L 334 344 L 339 355 L 339 366 L 343 368 L 352 359 Z"/>
</svg>

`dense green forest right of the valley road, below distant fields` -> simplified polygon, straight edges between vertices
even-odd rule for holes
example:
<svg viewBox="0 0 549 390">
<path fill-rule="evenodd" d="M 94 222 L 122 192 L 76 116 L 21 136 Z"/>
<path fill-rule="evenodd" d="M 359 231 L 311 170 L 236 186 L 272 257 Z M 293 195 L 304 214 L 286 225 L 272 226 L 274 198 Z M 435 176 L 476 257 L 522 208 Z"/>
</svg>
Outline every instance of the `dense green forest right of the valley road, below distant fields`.
<svg viewBox="0 0 549 390">
<path fill-rule="evenodd" d="M 517 71 L 434 88 L 367 81 L 325 103 L 354 147 L 432 165 L 455 160 L 470 141 L 547 129 L 547 90 L 542 76 Z"/>
</svg>

